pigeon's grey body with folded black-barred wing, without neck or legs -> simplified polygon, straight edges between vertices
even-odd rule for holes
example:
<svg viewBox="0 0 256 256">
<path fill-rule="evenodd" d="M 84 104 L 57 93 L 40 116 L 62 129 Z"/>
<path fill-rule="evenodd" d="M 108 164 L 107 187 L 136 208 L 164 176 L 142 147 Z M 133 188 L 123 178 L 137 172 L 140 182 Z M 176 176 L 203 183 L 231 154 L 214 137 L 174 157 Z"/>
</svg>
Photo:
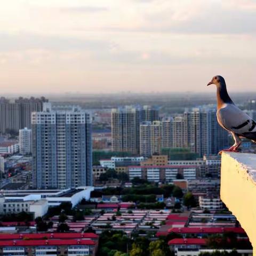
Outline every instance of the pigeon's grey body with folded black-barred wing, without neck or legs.
<svg viewBox="0 0 256 256">
<path fill-rule="evenodd" d="M 217 111 L 217 118 L 225 129 L 245 138 L 256 140 L 256 122 L 233 104 Z"/>
</svg>

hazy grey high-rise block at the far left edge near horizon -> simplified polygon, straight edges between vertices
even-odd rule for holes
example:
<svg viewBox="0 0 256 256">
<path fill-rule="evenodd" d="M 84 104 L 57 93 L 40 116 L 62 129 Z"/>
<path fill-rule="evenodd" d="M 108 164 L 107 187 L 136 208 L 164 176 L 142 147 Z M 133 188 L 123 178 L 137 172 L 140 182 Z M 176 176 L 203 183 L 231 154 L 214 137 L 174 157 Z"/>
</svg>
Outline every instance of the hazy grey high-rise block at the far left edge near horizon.
<svg viewBox="0 0 256 256">
<path fill-rule="evenodd" d="M 0 98 L 0 133 L 6 130 L 18 132 L 24 127 L 31 127 L 31 113 L 42 111 L 43 103 L 48 102 L 44 97 L 30 99 L 18 98 L 14 102 Z"/>
</svg>

